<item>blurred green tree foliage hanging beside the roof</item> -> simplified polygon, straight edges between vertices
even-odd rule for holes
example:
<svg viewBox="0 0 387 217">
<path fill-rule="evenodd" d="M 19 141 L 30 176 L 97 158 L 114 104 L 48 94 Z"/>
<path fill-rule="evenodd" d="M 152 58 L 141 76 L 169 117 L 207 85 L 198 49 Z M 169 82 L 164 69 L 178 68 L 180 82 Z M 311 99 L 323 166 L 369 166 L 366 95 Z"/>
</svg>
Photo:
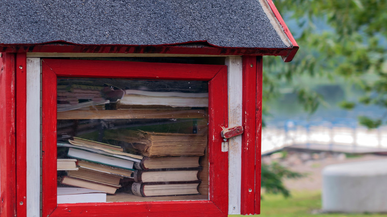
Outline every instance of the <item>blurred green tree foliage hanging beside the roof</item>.
<svg viewBox="0 0 387 217">
<path fill-rule="evenodd" d="M 280 58 L 264 59 L 264 101 L 278 96 L 288 85 L 298 94 L 308 112 L 323 103 L 315 91 L 297 82 L 301 76 L 332 81 L 345 78 L 348 85 L 360 88 L 364 96 L 356 103 L 377 105 L 387 110 L 387 1 L 386 0 L 274 0 L 300 47 L 292 62 Z M 295 28 L 296 26 L 296 28 Z M 265 113 L 264 113 L 265 114 Z M 387 112 L 380 115 L 386 119 Z M 383 121 L 359 118 L 367 127 Z"/>
</svg>

